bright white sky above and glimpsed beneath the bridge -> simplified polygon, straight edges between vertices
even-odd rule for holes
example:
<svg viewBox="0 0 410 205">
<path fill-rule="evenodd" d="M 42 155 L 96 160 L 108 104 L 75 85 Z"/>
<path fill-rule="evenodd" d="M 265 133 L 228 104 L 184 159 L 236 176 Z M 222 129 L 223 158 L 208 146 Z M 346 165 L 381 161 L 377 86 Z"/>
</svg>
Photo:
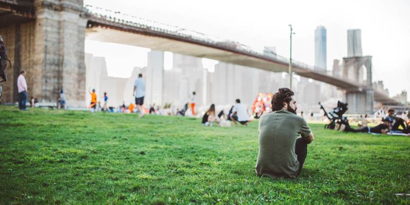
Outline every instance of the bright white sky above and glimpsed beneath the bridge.
<svg viewBox="0 0 410 205">
<path fill-rule="evenodd" d="M 110 0 L 84 0 L 84 4 L 234 40 L 260 50 L 263 46 L 275 46 L 277 54 L 285 57 L 289 57 L 288 25 L 292 24 L 296 33 L 292 37 L 292 58 L 309 65 L 314 65 L 314 30 L 322 25 L 327 30 L 327 70 L 332 69 L 333 59 L 341 60 L 347 55 L 347 29 L 361 29 L 363 55 L 373 56 L 373 81 L 383 80 L 390 95 L 406 90 L 410 98 L 410 1 L 116 0 L 113 4 Z M 86 52 L 110 55 L 90 46 L 96 44 L 87 40 Z M 141 52 L 135 47 L 131 49 Z"/>
</svg>

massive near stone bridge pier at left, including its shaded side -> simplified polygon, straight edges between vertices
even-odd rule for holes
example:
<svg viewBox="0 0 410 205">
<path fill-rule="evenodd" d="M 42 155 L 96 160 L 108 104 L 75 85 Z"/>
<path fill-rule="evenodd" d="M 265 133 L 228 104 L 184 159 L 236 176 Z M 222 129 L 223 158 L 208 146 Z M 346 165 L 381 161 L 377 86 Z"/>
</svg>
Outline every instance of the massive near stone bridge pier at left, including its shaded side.
<svg viewBox="0 0 410 205">
<path fill-rule="evenodd" d="M 0 35 L 13 65 L 6 70 L 9 79 L 3 84 L 2 103 L 17 101 L 17 77 L 25 70 L 29 99 L 33 96 L 42 103 L 56 102 L 63 89 L 68 105 L 84 107 L 88 14 L 83 0 L 21 2 L 25 6 L 31 3 L 28 11 L 20 12 L 24 15 L 10 11 L 10 19 L 0 23 Z"/>
</svg>

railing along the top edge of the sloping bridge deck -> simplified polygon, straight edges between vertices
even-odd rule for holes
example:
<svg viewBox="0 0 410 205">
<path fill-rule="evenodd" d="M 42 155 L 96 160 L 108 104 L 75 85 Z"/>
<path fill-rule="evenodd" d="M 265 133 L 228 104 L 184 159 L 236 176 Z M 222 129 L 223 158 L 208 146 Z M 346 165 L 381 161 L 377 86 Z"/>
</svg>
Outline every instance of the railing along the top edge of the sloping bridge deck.
<svg viewBox="0 0 410 205">
<path fill-rule="evenodd" d="M 162 33 L 167 33 L 171 35 L 176 35 L 179 37 L 189 38 L 189 39 L 197 40 L 199 42 L 213 44 L 219 47 L 228 48 L 231 50 L 233 49 L 233 50 L 257 55 L 263 58 L 279 61 L 280 63 L 289 64 L 288 57 L 278 55 L 273 51 L 260 50 L 260 49 L 256 49 L 256 48 L 253 48 L 247 45 L 243 45 L 234 40 L 222 39 L 219 37 L 212 37 L 212 36 L 197 32 L 197 31 L 187 30 L 187 29 L 183 29 L 177 26 L 159 23 L 154 20 L 149 20 L 149 19 L 134 16 L 134 15 L 121 13 L 119 11 L 112 11 L 109 9 L 94 7 L 91 5 L 85 5 L 84 7 L 88 9 L 89 13 L 92 16 L 95 16 L 98 18 L 104 18 L 108 20 L 109 22 L 124 24 L 128 26 L 141 28 L 141 29 L 150 29 L 156 32 L 162 32 Z M 325 75 L 332 76 L 332 71 L 315 68 L 314 66 L 310 66 L 308 64 L 302 63 L 294 59 L 292 59 L 292 65 L 303 68 L 303 69 L 314 70 L 315 72 L 320 72 Z M 352 83 L 354 82 L 352 81 Z"/>
</svg>

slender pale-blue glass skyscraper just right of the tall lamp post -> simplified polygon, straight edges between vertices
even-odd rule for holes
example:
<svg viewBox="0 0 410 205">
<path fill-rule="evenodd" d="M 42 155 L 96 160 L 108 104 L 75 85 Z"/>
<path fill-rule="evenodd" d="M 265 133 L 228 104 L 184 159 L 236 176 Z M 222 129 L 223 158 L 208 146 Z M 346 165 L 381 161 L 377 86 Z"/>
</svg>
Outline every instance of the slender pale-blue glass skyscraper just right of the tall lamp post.
<svg viewBox="0 0 410 205">
<path fill-rule="evenodd" d="M 326 70 L 326 29 L 318 26 L 315 29 L 315 67 Z"/>
</svg>

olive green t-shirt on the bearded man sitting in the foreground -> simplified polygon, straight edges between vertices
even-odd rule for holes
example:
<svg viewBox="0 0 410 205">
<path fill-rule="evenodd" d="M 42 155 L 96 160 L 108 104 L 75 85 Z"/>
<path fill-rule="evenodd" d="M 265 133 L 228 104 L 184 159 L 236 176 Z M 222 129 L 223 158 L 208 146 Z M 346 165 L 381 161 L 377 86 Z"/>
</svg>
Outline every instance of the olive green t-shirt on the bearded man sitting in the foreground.
<svg viewBox="0 0 410 205">
<path fill-rule="evenodd" d="M 295 143 L 299 134 L 306 137 L 311 129 L 302 117 L 284 109 L 262 115 L 259 121 L 259 153 L 256 173 L 273 178 L 296 178 L 299 162 Z"/>
</svg>

